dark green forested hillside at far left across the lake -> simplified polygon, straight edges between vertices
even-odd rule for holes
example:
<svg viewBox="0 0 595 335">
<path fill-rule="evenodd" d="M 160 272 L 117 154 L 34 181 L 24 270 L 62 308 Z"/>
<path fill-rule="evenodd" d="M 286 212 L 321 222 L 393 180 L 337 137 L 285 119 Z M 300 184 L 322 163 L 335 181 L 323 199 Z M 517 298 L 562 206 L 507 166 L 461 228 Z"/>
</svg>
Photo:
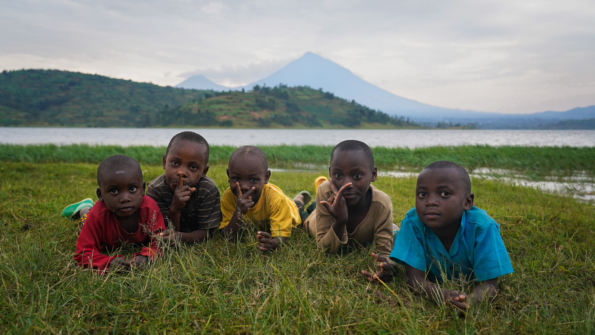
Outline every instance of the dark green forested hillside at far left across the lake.
<svg viewBox="0 0 595 335">
<path fill-rule="evenodd" d="M 207 91 L 58 70 L 0 74 L 0 125 L 152 126 L 165 104 Z"/>
</svg>

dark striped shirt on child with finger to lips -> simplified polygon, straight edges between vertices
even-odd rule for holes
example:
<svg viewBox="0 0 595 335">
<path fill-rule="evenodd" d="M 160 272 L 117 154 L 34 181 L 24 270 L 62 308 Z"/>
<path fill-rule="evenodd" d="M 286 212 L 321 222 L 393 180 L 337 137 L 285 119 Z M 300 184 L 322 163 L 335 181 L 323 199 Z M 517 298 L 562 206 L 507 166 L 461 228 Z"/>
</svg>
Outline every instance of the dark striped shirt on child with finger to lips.
<svg viewBox="0 0 595 335">
<path fill-rule="evenodd" d="M 196 183 L 196 191 L 190 196 L 186 207 L 180 210 L 180 231 L 191 232 L 197 229 L 217 228 L 221 222 L 221 199 L 215 182 L 204 176 Z M 153 179 L 147 188 L 151 197 L 161 209 L 168 227 L 167 214 L 174 199 L 174 191 L 165 180 L 165 173 Z"/>
</svg>

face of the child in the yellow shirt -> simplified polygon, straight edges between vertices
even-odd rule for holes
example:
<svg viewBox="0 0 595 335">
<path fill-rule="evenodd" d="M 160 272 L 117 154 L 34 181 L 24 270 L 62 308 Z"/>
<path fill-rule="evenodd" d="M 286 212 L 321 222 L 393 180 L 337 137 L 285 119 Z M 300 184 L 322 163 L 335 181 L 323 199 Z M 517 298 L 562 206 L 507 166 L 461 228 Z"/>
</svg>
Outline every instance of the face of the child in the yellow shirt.
<svg viewBox="0 0 595 335">
<path fill-rule="evenodd" d="M 271 178 L 271 170 L 267 170 L 264 163 L 258 157 L 246 155 L 230 160 L 227 176 L 229 178 L 229 187 L 236 197 L 240 196 L 236 182 L 240 184 L 242 194 L 255 187 L 250 197 L 252 197 L 252 201 L 256 204 L 261 197 L 262 188 L 268 183 L 268 179 Z"/>
</svg>

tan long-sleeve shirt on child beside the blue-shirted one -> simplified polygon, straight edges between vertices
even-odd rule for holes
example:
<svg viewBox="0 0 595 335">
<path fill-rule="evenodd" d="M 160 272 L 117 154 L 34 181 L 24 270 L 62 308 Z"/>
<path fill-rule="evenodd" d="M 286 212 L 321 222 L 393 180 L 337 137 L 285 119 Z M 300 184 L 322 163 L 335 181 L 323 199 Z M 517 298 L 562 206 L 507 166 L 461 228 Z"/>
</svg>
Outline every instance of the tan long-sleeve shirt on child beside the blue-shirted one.
<svg viewBox="0 0 595 335">
<path fill-rule="evenodd" d="M 337 236 L 333 229 L 334 218 L 320 201 L 327 200 L 333 190 L 328 181 L 318 187 L 316 209 L 306 219 L 309 232 L 316 237 L 318 247 L 327 253 L 336 253 L 342 247 L 360 247 L 374 245 L 378 255 L 389 257 L 393 250 L 393 204 L 383 191 L 370 185 L 372 203 L 364 220 L 355 228 L 353 234 L 343 233 Z"/>
</svg>

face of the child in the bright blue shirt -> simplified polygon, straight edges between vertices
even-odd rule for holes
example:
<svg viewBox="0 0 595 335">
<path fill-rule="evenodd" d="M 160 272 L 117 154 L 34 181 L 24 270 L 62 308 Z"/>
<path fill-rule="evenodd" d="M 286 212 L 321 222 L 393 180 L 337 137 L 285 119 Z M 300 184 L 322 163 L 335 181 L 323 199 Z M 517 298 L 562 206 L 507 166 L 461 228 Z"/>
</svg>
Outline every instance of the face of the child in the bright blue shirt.
<svg viewBox="0 0 595 335">
<path fill-rule="evenodd" d="M 430 228 L 458 227 L 465 210 L 473 207 L 473 193 L 467 194 L 455 169 L 423 170 L 415 188 L 415 210 Z M 458 229 L 458 228 L 457 228 Z"/>
</svg>

